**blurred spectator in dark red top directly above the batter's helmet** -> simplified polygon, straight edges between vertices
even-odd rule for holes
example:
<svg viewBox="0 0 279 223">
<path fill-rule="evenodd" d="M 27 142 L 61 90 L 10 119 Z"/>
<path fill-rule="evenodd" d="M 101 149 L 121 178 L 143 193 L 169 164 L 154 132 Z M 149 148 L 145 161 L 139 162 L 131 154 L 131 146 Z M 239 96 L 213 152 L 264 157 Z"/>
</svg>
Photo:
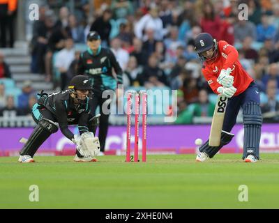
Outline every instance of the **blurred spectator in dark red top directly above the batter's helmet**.
<svg viewBox="0 0 279 223">
<path fill-rule="evenodd" d="M 210 33 L 217 41 L 220 40 L 222 23 L 220 17 L 216 15 L 211 2 L 205 3 L 202 6 L 202 20 L 200 26 L 202 27 L 202 32 Z"/>
</svg>

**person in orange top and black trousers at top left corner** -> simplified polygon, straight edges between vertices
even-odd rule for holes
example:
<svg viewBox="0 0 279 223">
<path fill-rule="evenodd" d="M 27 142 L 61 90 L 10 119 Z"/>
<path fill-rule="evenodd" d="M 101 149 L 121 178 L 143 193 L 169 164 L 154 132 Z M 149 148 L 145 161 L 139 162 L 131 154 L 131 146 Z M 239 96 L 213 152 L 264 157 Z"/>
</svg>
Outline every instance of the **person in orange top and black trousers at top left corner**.
<svg viewBox="0 0 279 223">
<path fill-rule="evenodd" d="M 6 31 L 9 33 L 9 47 L 13 48 L 14 43 L 14 24 L 13 20 L 17 10 L 17 0 L 0 1 L 0 48 L 7 47 Z"/>
</svg>

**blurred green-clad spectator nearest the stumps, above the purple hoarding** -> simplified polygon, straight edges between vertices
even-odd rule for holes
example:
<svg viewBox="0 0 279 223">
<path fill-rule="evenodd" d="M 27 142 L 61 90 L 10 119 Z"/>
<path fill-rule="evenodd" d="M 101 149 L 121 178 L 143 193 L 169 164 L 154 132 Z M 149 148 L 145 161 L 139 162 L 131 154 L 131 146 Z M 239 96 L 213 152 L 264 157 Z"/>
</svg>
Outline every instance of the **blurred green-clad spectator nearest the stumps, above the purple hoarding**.
<svg viewBox="0 0 279 223">
<path fill-rule="evenodd" d="M 188 109 L 183 91 L 177 91 L 177 118 L 175 124 L 190 124 L 193 122 L 193 112 Z"/>
</svg>

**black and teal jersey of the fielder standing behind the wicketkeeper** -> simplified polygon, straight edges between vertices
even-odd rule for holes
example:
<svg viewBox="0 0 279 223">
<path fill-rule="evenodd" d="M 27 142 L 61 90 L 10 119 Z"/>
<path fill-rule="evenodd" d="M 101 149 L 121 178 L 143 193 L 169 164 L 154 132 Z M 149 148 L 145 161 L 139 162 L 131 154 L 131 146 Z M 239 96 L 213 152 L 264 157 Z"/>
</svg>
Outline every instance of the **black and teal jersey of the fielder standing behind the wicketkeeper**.
<svg viewBox="0 0 279 223">
<path fill-rule="evenodd" d="M 116 77 L 112 74 L 112 68 Z M 105 47 L 99 47 L 95 55 L 90 48 L 80 54 L 77 75 L 87 75 L 95 93 L 107 89 L 115 90 L 117 84 L 122 84 L 122 69 L 112 50 Z"/>
</svg>

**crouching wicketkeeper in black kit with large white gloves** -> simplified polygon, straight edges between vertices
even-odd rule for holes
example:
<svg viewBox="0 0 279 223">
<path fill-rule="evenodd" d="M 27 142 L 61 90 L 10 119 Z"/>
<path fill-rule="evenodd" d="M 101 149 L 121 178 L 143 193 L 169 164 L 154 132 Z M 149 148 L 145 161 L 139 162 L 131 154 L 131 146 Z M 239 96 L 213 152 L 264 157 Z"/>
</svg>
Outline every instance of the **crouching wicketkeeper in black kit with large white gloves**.
<svg viewBox="0 0 279 223">
<path fill-rule="evenodd" d="M 61 132 L 77 145 L 74 161 L 96 162 L 94 156 L 100 152 L 100 144 L 93 132 L 98 126 L 98 116 L 91 116 L 91 85 L 89 79 L 77 75 L 70 81 L 68 90 L 47 95 L 40 93 L 38 103 L 33 105 L 32 117 L 38 124 L 27 143 L 20 151 L 19 162 L 34 162 L 33 155 L 40 145 L 57 132 Z M 73 134 L 68 125 L 78 125 L 80 134 Z"/>
</svg>

